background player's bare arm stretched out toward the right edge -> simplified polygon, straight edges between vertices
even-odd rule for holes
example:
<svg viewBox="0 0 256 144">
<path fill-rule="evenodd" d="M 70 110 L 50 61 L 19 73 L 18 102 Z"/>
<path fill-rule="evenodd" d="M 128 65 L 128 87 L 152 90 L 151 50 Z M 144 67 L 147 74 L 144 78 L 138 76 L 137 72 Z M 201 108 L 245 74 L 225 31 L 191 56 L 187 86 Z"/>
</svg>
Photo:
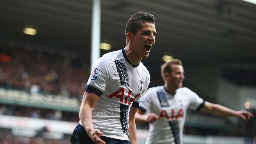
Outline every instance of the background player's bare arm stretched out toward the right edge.
<svg viewBox="0 0 256 144">
<path fill-rule="evenodd" d="M 253 114 L 248 111 L 235 111 L 222 105 L 213 104 L 207 101 L 205 102 L 201 111 L 224 117 L 236 116 L 244 119 L 245 121 L 248 121 L 251 117 L 253 117 Z"/>
</svg>

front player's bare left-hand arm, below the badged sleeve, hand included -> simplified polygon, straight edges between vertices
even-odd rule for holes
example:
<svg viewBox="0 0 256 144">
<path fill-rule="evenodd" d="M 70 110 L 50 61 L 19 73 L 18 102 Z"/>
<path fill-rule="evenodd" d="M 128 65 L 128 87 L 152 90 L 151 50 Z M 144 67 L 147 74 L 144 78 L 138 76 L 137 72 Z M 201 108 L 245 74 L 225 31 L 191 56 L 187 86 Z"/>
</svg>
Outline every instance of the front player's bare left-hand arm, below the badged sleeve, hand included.
<svg viewBox="0 0 256 144">
<path fill-rule="evenodd" d="M 100 97 L 98 95 L 85 91 L 79 111 L 79 118 L 92 141 L 95 144 L 105 144 L 105 142 L 100 139 L 100 136 L 102 136 L 103 133 L 98 129 L 94 129 L 92 123 L 92 108 L 99 98 Z"/>
</svg>

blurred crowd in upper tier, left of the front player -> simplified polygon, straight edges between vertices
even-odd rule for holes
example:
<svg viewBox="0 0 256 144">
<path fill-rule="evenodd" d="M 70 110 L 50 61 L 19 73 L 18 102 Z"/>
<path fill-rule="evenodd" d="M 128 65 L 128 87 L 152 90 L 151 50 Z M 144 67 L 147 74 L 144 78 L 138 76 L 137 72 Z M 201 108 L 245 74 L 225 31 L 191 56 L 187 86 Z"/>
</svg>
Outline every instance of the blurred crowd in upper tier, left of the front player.
<svg viewBox="0 0 256 144">
<path fill-rule="evenodd" d="M 90 74 L 89 61 L 80 56 L 0 43 L 0 85 L 63 96 L 82 96 Z"/>
</svg>

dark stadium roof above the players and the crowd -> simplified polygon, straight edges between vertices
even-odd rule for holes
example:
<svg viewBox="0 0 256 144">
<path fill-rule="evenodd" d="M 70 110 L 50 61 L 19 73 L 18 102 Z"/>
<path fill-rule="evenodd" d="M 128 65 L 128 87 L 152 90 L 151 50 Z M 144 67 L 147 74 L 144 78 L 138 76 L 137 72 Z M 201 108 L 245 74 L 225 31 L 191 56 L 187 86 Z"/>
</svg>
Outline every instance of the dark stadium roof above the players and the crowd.
<svg viewBox="0 0 256 144">
<path fill-rule="evenodd" d="M 101 42 L 125 47 L 131 14 L 156 16 L 156 44 L 144 62 L 164 54 L 182 61 L 256 60 L 256 5 L 241 0 L 101 0 Z M 0 40 L 88 52 L 92 0 L 1 0 Z M 37 29 L 35 36 L 23 33 Z M 108 51 L 101 50 L 101 54 Z"/>
</svg>

